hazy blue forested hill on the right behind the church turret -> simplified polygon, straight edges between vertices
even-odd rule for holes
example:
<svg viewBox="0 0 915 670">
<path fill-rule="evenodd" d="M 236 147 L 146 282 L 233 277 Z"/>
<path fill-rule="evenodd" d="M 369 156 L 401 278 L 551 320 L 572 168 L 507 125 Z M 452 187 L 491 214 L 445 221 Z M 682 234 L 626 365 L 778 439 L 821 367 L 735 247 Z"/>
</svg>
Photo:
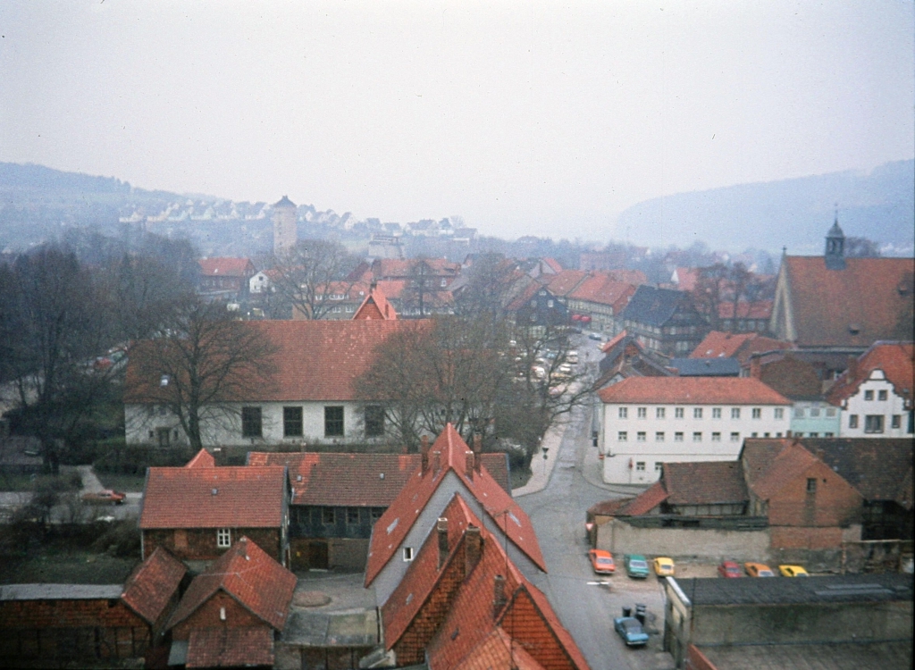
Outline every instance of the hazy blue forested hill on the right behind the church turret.
<svg viewBox="0 0 915 670">
<path fill-rule="evenodd" d="M 698 240 L 713 249 L 787 246 L 790 254 L 821 254 L 836 205 L 846 235 L 875 240 L 884 254 L 912 254 L 915 160 L 870 174 L 849 170 L 645 200 L 619 215 L 613 236 L 646 245 Z"/>
</svg>

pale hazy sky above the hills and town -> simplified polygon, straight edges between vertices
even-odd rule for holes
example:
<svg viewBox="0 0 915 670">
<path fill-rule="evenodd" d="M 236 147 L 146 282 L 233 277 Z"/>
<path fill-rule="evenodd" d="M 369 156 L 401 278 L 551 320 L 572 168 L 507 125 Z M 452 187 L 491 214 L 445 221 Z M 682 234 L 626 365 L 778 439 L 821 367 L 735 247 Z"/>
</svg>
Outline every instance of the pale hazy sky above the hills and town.
<svg viewBox="0 0 915 670">
<path fill-rule="evenodd" d="M 504 237 L 915 156 L 911 0 L 0 0 L 0 161 Z"/>
</svg>

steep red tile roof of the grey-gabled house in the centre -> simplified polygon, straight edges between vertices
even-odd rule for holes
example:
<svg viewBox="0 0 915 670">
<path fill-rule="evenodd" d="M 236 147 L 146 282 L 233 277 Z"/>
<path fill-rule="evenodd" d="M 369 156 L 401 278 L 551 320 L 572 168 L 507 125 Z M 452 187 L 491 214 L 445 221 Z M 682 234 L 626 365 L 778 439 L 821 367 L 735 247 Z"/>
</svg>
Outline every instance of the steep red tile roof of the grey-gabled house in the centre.
<svg viewBox="0 0 915 670">
<path fill-rule="evenodd" d="M 404 490 L 391 503 L 374 526 L 369 546 L 368 565 L 365 568 L 365 584 L 370 585 L 378 576 L 394 552 L 401 545 L 414 522 L 419 518 L 425 505 L 430 501 L 445 481 L 446 475 L 453 472 L 464 486 L 464 491 L 473 496 L 490 515 L 511 542 L 529 557 L 535 565 L 546 570 L 544 556 L 541 553 L 533 524 L 521 506 L 511 499 L 511 495 L 501 488 L 485 467 L 479 471 L 468 472 L 467 443 L 458 435 L 451 424 L 436 439 L 429 449 L 429 467 L 423 472 L 422 467 L 414 471 L 408 479 Z M 438 466 L 436 467 L 436 460 Z"/>
</svg>

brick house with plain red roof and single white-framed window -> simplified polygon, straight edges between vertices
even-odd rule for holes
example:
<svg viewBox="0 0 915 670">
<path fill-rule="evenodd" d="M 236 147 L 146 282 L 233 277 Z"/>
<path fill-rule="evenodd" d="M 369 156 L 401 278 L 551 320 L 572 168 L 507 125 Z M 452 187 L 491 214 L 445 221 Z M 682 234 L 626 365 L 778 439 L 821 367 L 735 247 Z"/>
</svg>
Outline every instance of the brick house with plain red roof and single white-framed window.
<svg viewBox="0 0 915 670">
<path fill-rule="evenodd" d="M 242 535 L 288 564 L 289 482 L 283 466 L 149 468 L 140 513 L 143 557 L 164 546 L 181 560 L 214 560 Z"/>
</svg>

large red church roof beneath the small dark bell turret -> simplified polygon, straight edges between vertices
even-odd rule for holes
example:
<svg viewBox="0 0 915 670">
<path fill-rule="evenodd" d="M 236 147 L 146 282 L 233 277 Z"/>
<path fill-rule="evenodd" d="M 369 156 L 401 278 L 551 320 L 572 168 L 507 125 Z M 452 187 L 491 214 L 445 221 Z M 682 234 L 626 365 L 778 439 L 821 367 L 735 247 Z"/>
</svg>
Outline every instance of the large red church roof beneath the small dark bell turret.
<svg viewBox="0 0 915 670">
<path fill-rule="evenodd" d="M 826 269 L 823 256 L 787 256 L 783 263 L 803 346 L 867 346 L 899 337 L 900 317 L 911 314 L 911 258 L 846 258 L 844 270 Z"/>
</svg>

